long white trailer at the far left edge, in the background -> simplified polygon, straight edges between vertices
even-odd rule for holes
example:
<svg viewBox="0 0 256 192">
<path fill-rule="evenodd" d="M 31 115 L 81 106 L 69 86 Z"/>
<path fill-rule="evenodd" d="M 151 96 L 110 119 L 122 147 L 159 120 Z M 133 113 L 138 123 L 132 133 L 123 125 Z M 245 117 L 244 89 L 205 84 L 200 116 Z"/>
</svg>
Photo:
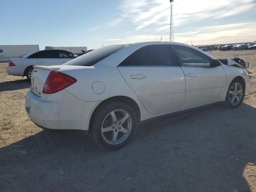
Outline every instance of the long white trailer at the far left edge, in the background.
<svg viewBox="0 0 256 192">
<path fill-rule="evenodd" d="M 38 45 L 0 45 L 0 62 L 24 57 L 35 51 L 39 51 Z"/>
</svg>

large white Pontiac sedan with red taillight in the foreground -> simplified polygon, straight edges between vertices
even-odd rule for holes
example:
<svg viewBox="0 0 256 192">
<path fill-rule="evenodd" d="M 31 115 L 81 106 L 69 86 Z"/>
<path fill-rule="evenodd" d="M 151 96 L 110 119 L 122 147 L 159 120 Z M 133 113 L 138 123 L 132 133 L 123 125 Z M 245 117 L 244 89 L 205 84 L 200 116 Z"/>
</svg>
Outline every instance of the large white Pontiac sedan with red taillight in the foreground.
<svg viewBox="0 0 256 192">
<path fill-rule="evenodd" d="M 144 120 L 216 102 L 236 108 L 249 86 L 246 70 L 187 44 L 117 44 L 34 66 L 25 107 L 41 128 L 84 131 L 116 149 Z"/>
</svg>

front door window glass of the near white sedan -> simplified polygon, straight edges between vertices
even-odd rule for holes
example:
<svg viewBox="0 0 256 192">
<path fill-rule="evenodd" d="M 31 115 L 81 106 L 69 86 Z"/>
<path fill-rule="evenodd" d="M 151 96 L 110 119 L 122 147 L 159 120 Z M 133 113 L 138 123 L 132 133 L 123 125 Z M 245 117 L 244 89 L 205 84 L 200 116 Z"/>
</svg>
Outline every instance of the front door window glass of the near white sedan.
<svg viewBox="0 0 256 192">
<path fill-rule="evenodd" d="M 201 52 L 184 46 L 172 46 L 181 66 L 211 67 L 212 59 Z"/>
</svg>

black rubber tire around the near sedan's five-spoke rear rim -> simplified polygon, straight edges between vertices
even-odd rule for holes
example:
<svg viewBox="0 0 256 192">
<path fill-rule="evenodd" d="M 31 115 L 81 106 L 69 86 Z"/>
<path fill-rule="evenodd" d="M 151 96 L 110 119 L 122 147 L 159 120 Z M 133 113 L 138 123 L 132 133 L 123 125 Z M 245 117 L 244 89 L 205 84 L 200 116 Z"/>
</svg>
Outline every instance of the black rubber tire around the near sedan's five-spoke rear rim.
<svg viewBox="0 0 256 192">
<path fill-rule="evenodd" d="M 122 130 L 119 130 L 120 127 L 118 123 L 120 123 L 120 119 L 122 118 L 122 116 L 118 118 L 118 113 L 120 112 L 118 110 L 120 110 L 121 112 L 127 112 L 129 115 L 127 120 L 125 120 L 124 123 L 121 124 L 122 128 L 126 126 L 124 124 L 127 124 L 126 130 L 129 130 L 128 125 L 131 123 L 129 126 L 130 127 L 129 134 L 124 134 Z M 117 124 L 115 124 L 115 122 L 113 121 L 112 115 L 110 114 L 111 112 L 114 112 L 114 114 L 116 114 L 116 119 L 119 120 L 117 121 Z M 122 114 L 121 112 L 120 114 Z M 109 124 L 106 125 L 106 127 L 109 127 L 109 129 L 112 128 L 112 130 L 102 133 L 104 124 L 106 123 L 107 120 Z M 137 120 L 136 114 L 128 104 L 125 104 L 123 102 L 110 102 L 100 106 L 100 108 L 98 108 L 97 111 L 94 113 L 94 116 L 92 117 L 92 122 L 90 123 L 89 134 L 92 140 L 101 148 L 116 150 L 126 145 L 133 138 L 136 132 L 137 124 L 138 124 L 138 120 Z M 119 144 L 108 143 L 108 142 L 111 142 L 111 140 L 114 140 L 114 134 L 115 134 L 114 132 L 116 132 L 117 134 L 116 141 L 122 139 L 122 137 L 124 136 L 126 136 L 126 138 Z M 107 136 L 111 137 L 112 139 L 108 141 Z M 121 136 L 121 137 L 118 139 L 118 136 Z"/>
</svg>

